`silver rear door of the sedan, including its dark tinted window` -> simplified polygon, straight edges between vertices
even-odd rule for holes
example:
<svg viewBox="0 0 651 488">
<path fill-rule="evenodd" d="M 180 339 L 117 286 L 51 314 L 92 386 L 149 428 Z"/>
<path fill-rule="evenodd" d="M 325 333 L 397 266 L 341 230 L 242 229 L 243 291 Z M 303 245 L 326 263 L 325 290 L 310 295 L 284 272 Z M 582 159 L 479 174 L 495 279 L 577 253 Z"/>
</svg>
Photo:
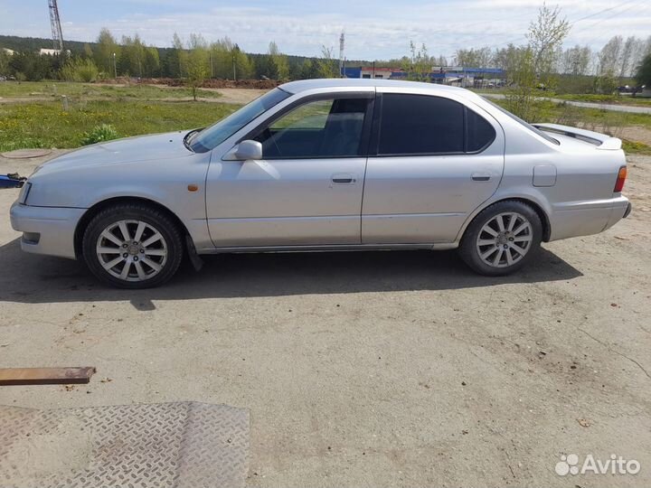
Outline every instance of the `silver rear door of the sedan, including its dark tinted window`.
<svg viewBox="0 0 651 488">
<path fill-rule="evenodd" d="M 483 109 L 453 95 L 378 88 L 375 105 L 363 243 L 454 241 L 468 214 L 500 182 L 502 128 Z"/>
</svg>

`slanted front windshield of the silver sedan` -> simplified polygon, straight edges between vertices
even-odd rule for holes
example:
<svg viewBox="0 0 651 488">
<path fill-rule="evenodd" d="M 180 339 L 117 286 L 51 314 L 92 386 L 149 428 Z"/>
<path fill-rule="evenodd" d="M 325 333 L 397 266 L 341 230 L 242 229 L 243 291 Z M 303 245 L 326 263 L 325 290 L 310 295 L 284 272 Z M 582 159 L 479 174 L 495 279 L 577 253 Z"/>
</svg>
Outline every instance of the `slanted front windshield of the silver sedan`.
<svg viewBox="0 0 651 488">
<path fill-rule="evenodd" d="M 196 133 L 189 141 L 190 149 L 195 153 L 205 153 L 217 145 L 222 144 L 226 139 L 235 134 L 242 127 L 246 126 L 251 120 L 259 117 L 291 94 L 282 89 L 272 89 L 265 93 L 259 99 L 255 99 L 248 105 L 233 112 L 230 116 L 222 118 L 211 127 L 204 128 L 201 132 Z"/>
</svg>

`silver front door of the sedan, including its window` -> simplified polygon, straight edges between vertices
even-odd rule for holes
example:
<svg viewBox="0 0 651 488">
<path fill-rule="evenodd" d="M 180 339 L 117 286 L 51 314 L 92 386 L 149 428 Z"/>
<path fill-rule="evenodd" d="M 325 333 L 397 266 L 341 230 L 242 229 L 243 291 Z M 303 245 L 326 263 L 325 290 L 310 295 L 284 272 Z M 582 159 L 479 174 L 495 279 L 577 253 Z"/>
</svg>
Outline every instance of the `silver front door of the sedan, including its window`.
<svg viewBox="0 0 651 488">
<path fill-rule="evenodd" d="M 373 93 L 301 99 L 247 139 L 259 161 L 216 161 L 206 211 L 216 247 L 361 243 Z"/>
</svg>

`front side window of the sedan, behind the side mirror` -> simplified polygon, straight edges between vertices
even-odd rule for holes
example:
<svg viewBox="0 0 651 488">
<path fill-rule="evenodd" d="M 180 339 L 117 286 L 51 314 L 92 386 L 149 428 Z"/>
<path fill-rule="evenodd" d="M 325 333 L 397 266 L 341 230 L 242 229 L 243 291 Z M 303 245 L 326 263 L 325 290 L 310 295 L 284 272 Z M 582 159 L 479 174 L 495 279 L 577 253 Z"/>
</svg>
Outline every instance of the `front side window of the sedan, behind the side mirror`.
<svg viewBox="0 0 651 488">
<path fill-rule="evenodd" d="M 262 127 L 254 139 L 265 159 L 362 155 L 370 99 L 316 99 Z"/>
</svg>

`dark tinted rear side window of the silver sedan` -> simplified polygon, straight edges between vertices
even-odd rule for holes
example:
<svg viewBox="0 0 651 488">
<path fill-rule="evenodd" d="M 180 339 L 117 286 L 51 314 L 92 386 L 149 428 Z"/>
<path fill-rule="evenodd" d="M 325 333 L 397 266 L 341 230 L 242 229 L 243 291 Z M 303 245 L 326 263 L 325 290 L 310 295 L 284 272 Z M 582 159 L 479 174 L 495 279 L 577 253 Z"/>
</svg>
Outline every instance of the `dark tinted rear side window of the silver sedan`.
<svg viewBox="0 0 651 488">
<path fill-rule="evenodd" d="M 493 126 L 457 101 L 429 95 L 382 96 L 378 155 L 475 153 L 494 139 Z"/>
</svg>

